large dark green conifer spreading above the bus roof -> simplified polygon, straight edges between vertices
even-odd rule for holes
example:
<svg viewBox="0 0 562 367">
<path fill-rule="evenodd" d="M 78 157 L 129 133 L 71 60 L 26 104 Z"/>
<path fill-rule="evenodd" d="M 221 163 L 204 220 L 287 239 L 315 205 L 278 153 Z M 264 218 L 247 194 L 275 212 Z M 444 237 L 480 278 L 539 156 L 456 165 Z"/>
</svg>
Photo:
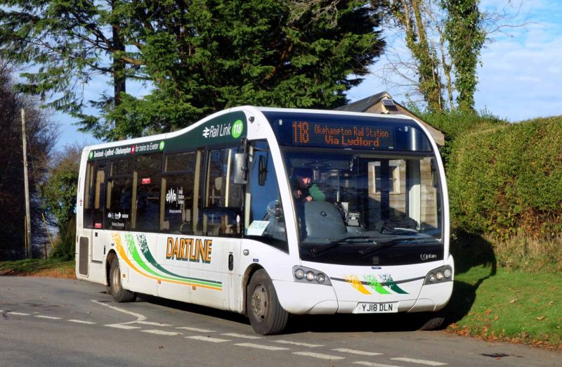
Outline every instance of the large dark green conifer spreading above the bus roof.
<svg viewBox="0 0 562 367">
<path fill-rule="evenodd" d="M 334 108 L 384 48 L 369 1 L 314 1 L 299 16 L 281 0 L 0 4 L 12 6 L 0 10 L 1 57 L 37 66 L 22 89 L 55 93 L 53 107 L 107 140 L 179 129 L 234 105 Z M 83 88 L 96 75 L 114 91 L 88 104 Z M 127 94 L 130 80 L 150 94 Z"/>
</svg>

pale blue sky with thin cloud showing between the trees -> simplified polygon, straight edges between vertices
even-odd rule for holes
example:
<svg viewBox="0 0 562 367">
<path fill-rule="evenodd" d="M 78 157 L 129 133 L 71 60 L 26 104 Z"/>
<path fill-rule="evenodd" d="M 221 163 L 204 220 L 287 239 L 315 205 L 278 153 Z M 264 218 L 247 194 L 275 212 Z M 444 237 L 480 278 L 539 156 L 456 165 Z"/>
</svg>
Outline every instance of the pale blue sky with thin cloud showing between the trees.
<svg viewBox="0 0 562 367">
<path fill-rule="evenodd" d="M 509 0 L 481 0 L 481 9 L 501 12 Z M 494 40 L 482 51 L 482 65 L 478 67 L 476 109 L 486 109 L 493 115 L 511 122 L 540 116 L 562 115 L 562 1 L 512 0 L 522 4 L 511 24 L 526 23 L 524 27 L 505 27 L 494 34 Z M 507 8 L 515 15 L 517 8 Z M 388 37 L 391 41 L 391 37 Z M 388 91 L 393 98 L 406 102 L 404 89 L 385 84 L 377 75 L 384 68 L 381 58 L 372 66 L 372 75 L 348 92 L 353 102 L 380 91 Z M 111 90 L 107 82 L 97 80 L 88 86 L 90 94 Z M 128 86 L 129 93 L 143 94 L 142 87 Z M 90 96 L 90 99 L 97 99 Z M 82 134 L 72 125 L 72 119 L 57 113 L 53 121 L 60 124 L 58 148 L 74 142 L 80 145 L 95 143 L 89 134 Z"/>
</svg>

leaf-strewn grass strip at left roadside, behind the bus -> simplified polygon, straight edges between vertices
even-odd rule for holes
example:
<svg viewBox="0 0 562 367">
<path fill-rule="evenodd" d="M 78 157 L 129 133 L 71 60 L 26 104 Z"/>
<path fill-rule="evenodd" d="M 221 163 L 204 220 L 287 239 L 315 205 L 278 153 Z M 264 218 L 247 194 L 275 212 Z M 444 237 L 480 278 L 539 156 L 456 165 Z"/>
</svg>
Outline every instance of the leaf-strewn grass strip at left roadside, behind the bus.
<svg viewBox="0 0 562 367">
<path fill-rule="evenodd" d="M 0 276 L 50 276 L 74 279 L 74 260 L 29 259 L 0 262 Z"/>
</svg>

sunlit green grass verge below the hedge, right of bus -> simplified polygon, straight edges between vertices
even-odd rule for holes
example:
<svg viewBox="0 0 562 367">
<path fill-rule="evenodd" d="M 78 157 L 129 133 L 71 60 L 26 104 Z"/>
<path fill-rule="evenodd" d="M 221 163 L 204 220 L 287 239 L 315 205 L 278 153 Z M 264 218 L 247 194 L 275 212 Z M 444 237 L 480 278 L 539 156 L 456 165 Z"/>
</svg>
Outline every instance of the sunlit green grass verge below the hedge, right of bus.
<svg viewBox="0 0 562 367">
<path fill-rule="evenodd" d="M 447 330 L 485 340 L 562 349 L 562 279 L 474 267 L 457 275 Z M 459 306 L 462 310 L 459 312 Z M 455 311 L 452 311 L 455 309 Z"/>
</svg>

